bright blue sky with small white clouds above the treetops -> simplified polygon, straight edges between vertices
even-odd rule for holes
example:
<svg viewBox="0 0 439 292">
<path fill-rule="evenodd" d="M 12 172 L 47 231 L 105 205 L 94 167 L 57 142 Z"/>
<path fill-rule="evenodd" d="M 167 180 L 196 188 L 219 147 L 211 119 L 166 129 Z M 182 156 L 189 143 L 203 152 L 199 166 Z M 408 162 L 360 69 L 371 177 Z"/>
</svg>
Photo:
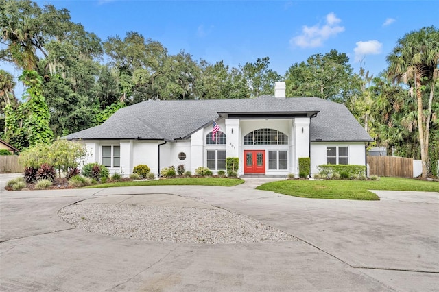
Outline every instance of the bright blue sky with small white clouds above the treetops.
<svg viewBox="0 0 439 292">
<path fill-rule="evenodd" d="M 398 38 L 439 27 L 439 1 L 36 1 L 67 8 L 102 40 L 128 31 L 184 50 L 195 60 L 229 66 L 268 56 L 283 75 L 296 62 L 331 49 L 377 75 Z M 3 64 L 2 64 L 3 67 Z"/>
</svg>

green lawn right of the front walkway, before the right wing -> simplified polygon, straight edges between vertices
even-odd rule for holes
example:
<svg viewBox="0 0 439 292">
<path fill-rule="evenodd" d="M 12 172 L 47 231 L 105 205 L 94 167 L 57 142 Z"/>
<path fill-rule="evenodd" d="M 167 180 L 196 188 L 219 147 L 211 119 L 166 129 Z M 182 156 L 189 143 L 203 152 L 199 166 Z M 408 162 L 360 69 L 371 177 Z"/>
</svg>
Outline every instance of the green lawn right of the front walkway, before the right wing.
<svg viewBox="0 0 439 292">
<path fill-rule="evenodd" d="M 258 186 L 257 189 L 315 199 L 377 200 L 379 197 L 368 190 L 439 192 L 439 182 L 407 178 L 380 178 L 380 180 L 281 180 L 278 182 L 268 182 Z"/>
</svg>

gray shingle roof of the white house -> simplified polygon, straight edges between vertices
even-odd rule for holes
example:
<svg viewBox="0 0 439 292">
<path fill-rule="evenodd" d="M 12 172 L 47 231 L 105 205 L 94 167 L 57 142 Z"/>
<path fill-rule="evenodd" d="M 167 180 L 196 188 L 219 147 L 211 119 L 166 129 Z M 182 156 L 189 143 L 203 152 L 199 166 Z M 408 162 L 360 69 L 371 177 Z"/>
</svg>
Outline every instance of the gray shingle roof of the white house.
<svg viewBox="0 0 439 292">
<path fill-rule="evenodd" d="M 67 139 L 175 139 L 189 136 L 219 112 L 319 112 L 311 119 L 311 141 L 370 141 L 348 109 L 317 97 L 143 101 L 121 108 L 110 119 Z"/>
</svg>

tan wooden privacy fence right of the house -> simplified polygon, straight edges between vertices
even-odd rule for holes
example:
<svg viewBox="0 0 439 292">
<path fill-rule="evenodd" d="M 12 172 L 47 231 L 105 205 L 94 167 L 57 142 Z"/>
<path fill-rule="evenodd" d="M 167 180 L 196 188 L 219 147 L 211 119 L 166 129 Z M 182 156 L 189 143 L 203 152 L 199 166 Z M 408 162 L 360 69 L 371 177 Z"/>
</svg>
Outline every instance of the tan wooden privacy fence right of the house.
<svg viewBox="0 0 439 292">
<path fill-rule="evenodd" d="M 370 175 L 413 178 L 413 158 L 368 156 Z"/>
</svg>

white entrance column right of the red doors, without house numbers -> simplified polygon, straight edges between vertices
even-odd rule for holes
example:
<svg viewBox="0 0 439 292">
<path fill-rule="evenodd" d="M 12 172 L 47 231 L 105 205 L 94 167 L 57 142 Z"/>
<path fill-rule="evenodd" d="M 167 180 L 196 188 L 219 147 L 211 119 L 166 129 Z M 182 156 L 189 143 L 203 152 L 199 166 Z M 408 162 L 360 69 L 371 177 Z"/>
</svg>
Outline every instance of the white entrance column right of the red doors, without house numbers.
<svg viewBox="0 0 439 292">
<path fill-rule="evenodd" d="M 299 158 L 309 157 L 309 118 L 295 118 L 294 119 L 294 173 L 298 175 Z"/>
</svg>

